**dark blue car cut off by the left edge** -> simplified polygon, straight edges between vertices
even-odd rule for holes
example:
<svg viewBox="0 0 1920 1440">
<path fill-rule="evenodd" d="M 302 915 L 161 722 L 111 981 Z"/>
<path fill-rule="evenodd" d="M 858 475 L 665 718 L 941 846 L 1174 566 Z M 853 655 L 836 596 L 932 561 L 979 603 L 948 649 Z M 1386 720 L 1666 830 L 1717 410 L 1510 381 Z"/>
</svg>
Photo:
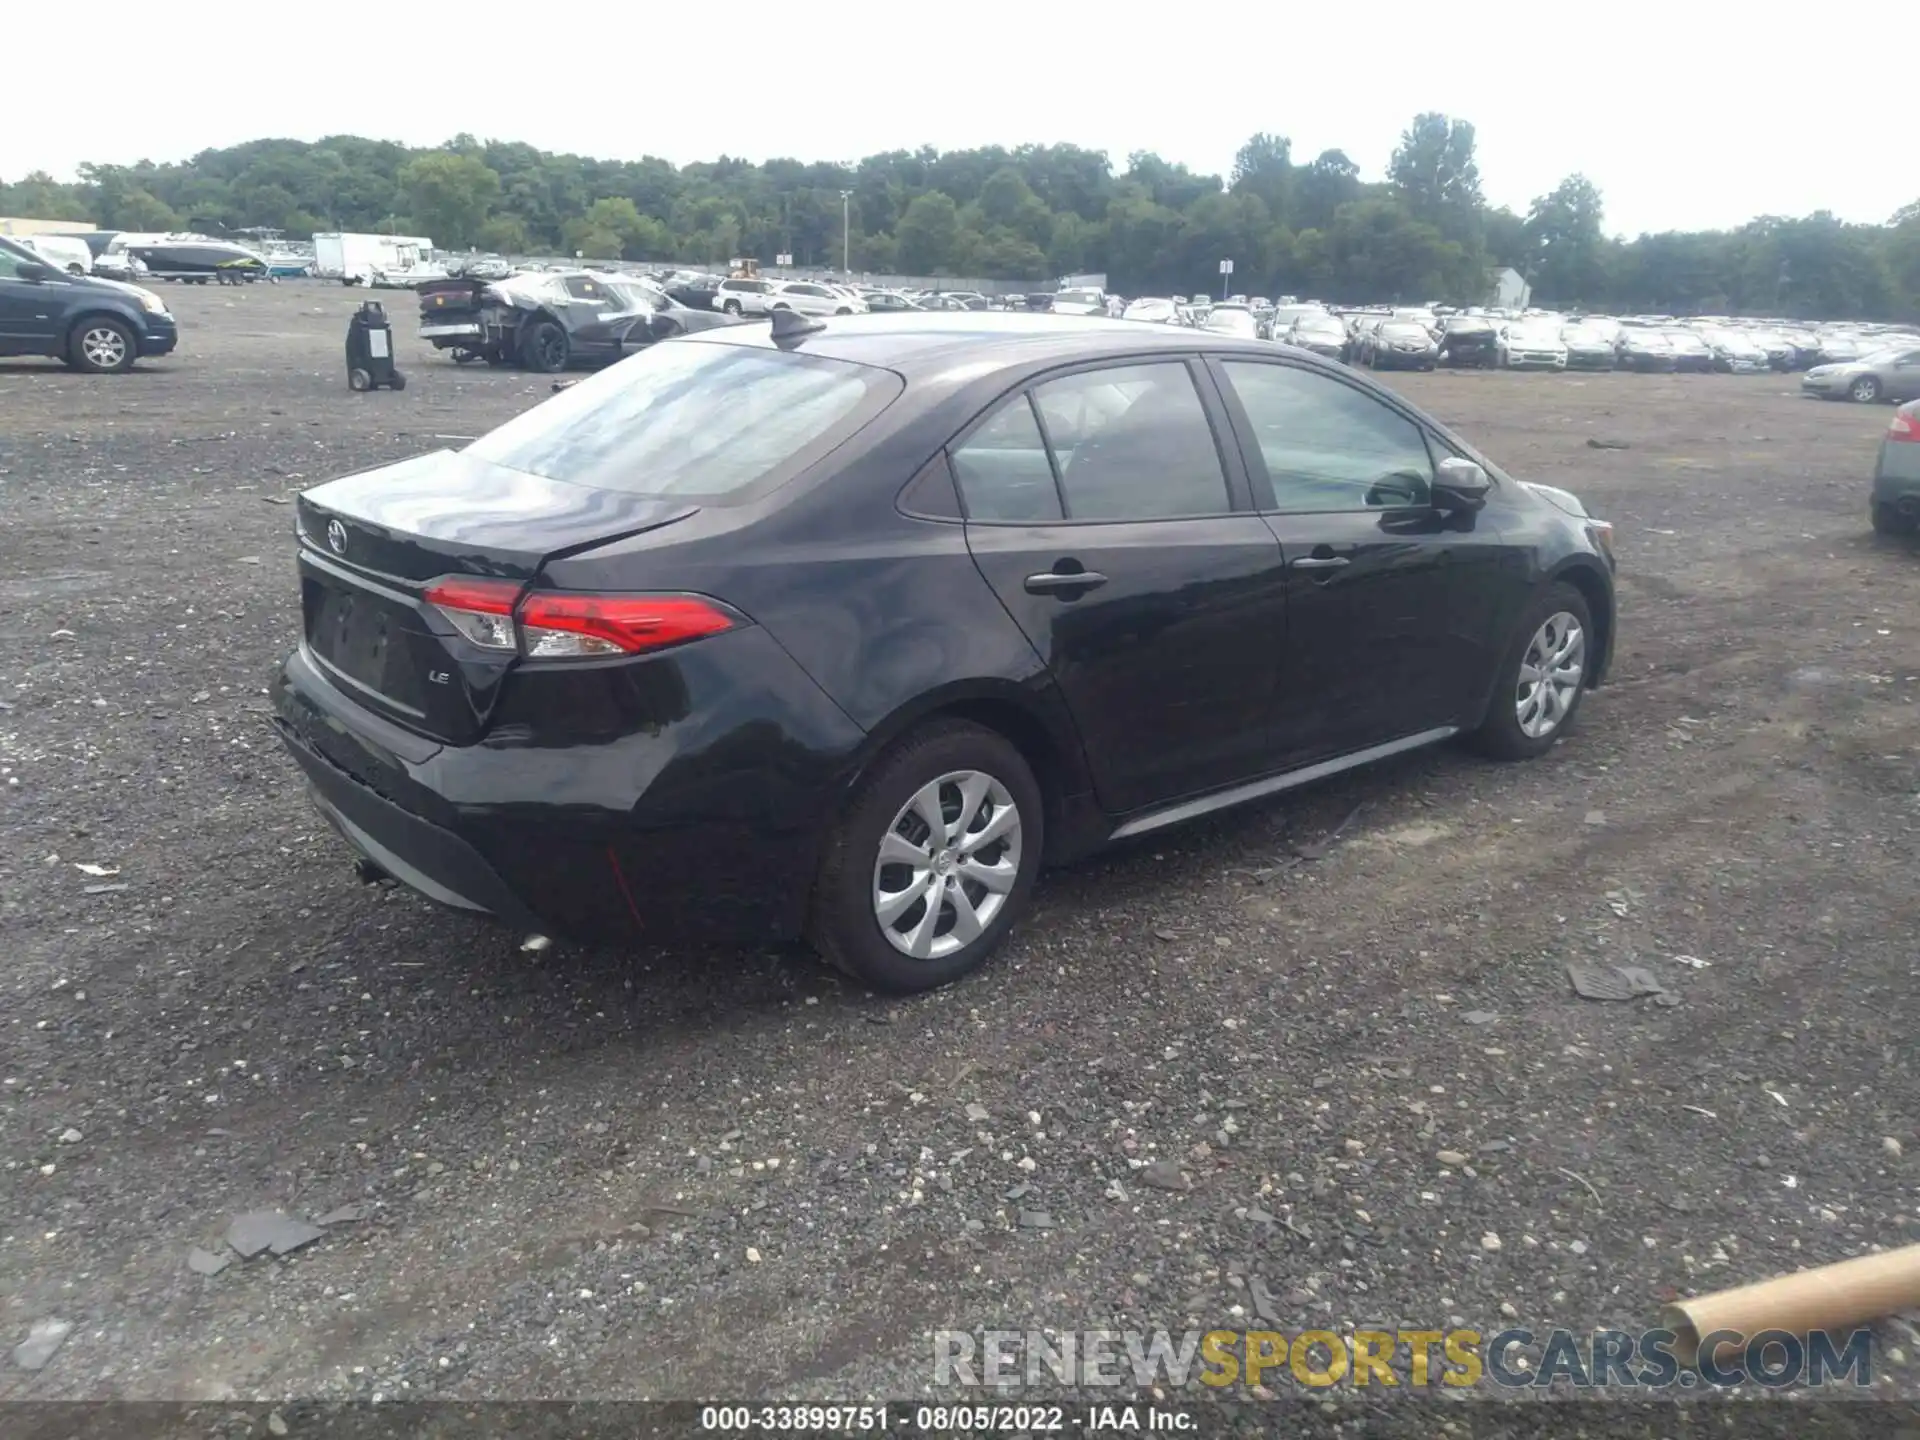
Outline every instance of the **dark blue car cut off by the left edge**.
<svg viewBox="0 0 1920 1440">
<path fill-rule="evenodd" d="M 69 275 L 0 236 L 0 355 L 50 355 L 88 374 L 121 374 L 179 344 L 180 328 L 152 290 Z"/>
</svg>

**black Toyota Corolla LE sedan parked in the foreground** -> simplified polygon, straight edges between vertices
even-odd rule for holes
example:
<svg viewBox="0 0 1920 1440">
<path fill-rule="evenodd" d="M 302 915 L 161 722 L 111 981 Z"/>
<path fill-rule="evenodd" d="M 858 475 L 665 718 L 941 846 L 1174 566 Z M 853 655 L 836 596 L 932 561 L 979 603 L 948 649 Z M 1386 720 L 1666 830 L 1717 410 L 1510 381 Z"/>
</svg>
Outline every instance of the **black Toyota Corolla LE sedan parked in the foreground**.
<svg viewBox="0 0 1920 1440">
<path fill-rule="evenodd" d="M 275 724 L 363 877 L 887 991 L 977 966 L 1043 862 L 1540 755 L 1615 632 L 1567 492 L 1336 363 L 1102 319 L 670 340 L 298 524 Z"/>
</svg>

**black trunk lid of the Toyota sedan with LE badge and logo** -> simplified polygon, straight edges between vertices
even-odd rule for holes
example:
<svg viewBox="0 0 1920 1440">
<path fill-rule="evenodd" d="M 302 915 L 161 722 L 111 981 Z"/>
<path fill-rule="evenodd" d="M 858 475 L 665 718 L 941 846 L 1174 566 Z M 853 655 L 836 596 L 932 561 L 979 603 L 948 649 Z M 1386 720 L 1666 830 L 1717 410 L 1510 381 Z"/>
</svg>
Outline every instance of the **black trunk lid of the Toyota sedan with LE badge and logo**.
<svg viewBox="0 0 1920 1440">
<path fill-rule="evenodd" d="M 298 499 L 303 637 L 344 691 L 453 745 L 478 739 L 518 662 L 459 636 L 420 595 L 442 576 L 530 584 L 578 549 L 672 524 L 699 507 L 434 451 Z"/>
</svg>

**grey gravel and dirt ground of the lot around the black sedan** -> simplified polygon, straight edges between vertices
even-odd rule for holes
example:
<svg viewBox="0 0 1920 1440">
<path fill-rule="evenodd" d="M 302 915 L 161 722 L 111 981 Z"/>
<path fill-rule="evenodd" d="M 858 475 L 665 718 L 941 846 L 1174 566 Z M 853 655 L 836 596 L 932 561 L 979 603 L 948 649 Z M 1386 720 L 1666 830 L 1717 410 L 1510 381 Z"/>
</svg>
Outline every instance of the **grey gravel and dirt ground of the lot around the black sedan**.
<svg viewBox="0 0 1920 1440">
<path fill-rule="evenodd" d="M 0 363 L 0 1354 L 73 1325 L 0 1400 L 899 1398 L 943 1327 L 1640 1329 L 1920 1240 L 1887 411 L 1396 380 L 1619 524 L 1578 732 L 1054 874 L 987 973 L 902 1004 L 797 956 L 532 960 L 357 885 L 263 718 L 284 499 L 549 382 L 432 357 L 401 305 L 413 384 L 351 396 L 351 294 L 167 296 L 184 346 L 134 374 Z M 1580 1000 L 1569 960 L 1676 1004 Z M 242 1212 L 346 1204 L 188 1267 Z"/>
</svg>

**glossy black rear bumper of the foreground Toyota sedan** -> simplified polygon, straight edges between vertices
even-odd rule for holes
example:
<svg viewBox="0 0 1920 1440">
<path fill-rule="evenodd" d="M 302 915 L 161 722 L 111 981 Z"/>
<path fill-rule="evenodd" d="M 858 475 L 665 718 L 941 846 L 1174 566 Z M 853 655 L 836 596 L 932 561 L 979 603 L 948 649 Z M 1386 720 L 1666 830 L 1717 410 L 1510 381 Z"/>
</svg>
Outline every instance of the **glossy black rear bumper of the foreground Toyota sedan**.
<svg viewBox="0 0 1920 1440">
<path fill-rule="evenodd" d="M 440 904 L 603 943 L 797 935 L 864 733 L 791 657 L 749 626 L 551 680 L 564 691 L 538 714 L 530 685 L 501 701 L 499 739 L 442 745 L 301 647 L 271 691 L 275 730 L 328 824 Z M 664 710 L 630 726 L 609 718 L 622 697 Z"/>
</svg>

